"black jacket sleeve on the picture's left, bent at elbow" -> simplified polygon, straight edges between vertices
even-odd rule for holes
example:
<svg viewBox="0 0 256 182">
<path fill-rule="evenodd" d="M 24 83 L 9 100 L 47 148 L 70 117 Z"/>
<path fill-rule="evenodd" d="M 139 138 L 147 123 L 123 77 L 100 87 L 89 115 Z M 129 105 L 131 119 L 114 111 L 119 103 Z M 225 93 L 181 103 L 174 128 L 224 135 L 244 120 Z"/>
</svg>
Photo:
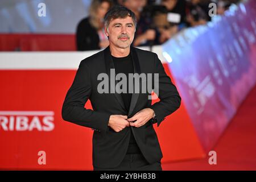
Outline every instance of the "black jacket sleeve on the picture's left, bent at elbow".
<svg viewBox="0 0 256 182">
<path fill-rule="evenodd" d="M 90 97 L 91 90 L 88 66 L 84 61 L 81 61 L 73 84 L 65 97 L 61 110 L 62 118 L 77 125 L 107 132 L 110 114 L 84 107 Z"/>
</svg>

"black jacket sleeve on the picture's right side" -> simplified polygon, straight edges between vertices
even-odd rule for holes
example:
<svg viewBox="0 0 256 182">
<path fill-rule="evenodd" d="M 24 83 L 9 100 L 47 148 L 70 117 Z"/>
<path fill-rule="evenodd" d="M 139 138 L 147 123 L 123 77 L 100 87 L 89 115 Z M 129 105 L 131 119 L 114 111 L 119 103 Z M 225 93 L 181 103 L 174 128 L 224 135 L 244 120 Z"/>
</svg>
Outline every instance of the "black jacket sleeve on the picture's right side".
<svg viewBox="0 0 256 182">
<path fill-rule="evenodd" d="M 181 103 L 181 97 L 177 92 L 176 86 L 172 84 L 171 78 L 164 71 L 163 64 L 155 54 L 155 71 L 159 74 L 159 102 L 151 105 L 150 108 L 155 111 L 158 126 L 167 115 L 174 113 Z"/>
</svg>

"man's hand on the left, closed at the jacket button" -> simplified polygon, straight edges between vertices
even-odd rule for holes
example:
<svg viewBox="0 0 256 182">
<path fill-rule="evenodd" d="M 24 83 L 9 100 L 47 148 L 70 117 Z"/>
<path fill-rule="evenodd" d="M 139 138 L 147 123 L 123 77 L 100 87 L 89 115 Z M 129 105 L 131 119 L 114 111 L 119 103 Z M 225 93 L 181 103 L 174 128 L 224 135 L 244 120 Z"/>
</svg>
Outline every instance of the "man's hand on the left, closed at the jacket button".
<svg viewBox="0 0 256 182">
<path fill-rule="evenodd" d="M 130 126 L 126 119 L 127 115 L 110 115 L 108 126 L 110 126 L 116 132 L 122 131 L 125 129 L 125 127 Z"/>
</svg>

